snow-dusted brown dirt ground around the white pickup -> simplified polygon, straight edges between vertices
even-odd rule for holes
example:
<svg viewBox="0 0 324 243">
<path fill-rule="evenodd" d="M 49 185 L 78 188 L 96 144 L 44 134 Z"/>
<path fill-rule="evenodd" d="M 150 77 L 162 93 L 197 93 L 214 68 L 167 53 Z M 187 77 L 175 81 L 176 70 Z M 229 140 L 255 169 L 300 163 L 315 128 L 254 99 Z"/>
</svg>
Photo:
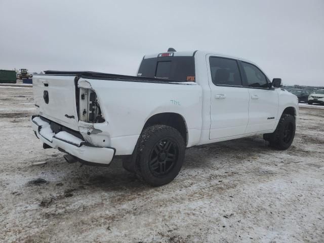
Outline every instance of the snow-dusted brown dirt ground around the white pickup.
<svg viewBox="0 0 324 243">
<path fill-rule="evenodd" d="M 262 136 L 193 147 L 159 188 L 120 160 L 80 167 L 44 150 L 31 89 L 1 88 L 0 108 L 0 242 L 324 242 L 321 108 L 300 106 L 286 151 Z"/>
</svg>

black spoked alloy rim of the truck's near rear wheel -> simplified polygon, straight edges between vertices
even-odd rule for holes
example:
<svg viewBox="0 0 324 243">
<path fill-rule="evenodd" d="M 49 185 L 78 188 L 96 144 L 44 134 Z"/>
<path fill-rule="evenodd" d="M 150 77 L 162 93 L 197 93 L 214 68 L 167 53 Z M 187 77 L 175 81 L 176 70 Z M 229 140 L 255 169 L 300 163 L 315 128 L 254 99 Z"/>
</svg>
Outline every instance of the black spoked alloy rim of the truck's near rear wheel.
<svg viewBox="0 0 324 243">
<path fill-rule="evenodd" d="M 149 155 L 149 169 L 155 177 L 166 176 L 176 165 L 179 156 L 177 143 L 171 138 L 160 139 Z"/>
</svg>

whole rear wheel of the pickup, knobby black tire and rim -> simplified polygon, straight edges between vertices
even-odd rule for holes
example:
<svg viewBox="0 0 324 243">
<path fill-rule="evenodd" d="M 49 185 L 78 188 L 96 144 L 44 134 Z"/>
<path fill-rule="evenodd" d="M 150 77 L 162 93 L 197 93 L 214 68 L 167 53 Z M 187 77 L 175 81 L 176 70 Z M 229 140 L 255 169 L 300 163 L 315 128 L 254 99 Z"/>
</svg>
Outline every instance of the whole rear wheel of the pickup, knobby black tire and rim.
<svg viewBox="0 0 324 243">
<path fill-rule="evenodd" d="M 140 135 L 135 154 L 135 173 L 151 186 L 170 183 L 179 174 L 185 142 L 175 128 L 154 125 Z"/>
</svg>

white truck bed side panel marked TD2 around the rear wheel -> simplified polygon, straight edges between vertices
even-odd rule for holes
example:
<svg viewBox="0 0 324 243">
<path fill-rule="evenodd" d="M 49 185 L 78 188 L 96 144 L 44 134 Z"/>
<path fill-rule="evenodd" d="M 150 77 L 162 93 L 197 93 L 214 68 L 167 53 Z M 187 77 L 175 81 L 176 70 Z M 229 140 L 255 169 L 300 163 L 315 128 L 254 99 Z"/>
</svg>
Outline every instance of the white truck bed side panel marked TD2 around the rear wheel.
<svg viewBox="0 0 324 243">
<path fill-rule="evenodd" d="M 197 144 L 201 129 L 201 87 L 184 84 L 87 80 L 99 99 L 116 154 L 131 154 L 146 121 L 155 114 L 180 114 L 188 130 L 188 145 Z"/>
</svg>

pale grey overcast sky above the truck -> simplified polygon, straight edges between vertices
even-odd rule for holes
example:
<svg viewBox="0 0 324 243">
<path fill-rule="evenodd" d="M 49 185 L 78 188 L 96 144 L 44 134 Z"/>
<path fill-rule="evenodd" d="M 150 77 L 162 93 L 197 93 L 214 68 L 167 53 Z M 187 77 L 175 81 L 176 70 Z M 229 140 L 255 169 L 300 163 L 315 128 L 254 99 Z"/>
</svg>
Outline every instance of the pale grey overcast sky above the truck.
<svg viewBox="0 0 324 243">
<path fill-rule="evenodd" d="M 324 0 L 0 0 L 0 69 L 134 75 L 144 54 L 206 50 L 324 86 Z"/>
</svg>

